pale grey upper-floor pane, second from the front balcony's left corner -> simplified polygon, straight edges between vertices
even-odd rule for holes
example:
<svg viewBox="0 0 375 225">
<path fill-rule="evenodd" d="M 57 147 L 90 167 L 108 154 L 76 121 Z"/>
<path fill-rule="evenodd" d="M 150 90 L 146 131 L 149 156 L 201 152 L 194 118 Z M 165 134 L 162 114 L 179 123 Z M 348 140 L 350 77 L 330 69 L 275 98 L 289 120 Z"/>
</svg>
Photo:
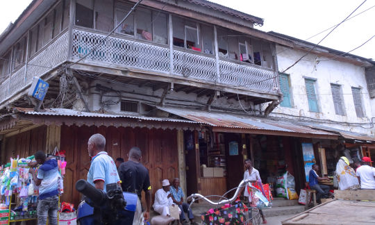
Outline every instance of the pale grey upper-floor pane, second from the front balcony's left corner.
<svg viewBox="0 0 375 225">
<path fill-rule="evenodd" d="M 95 28 L 99 31 L 113 30 L 113 1 L 95 0 Z"/>
</svg>

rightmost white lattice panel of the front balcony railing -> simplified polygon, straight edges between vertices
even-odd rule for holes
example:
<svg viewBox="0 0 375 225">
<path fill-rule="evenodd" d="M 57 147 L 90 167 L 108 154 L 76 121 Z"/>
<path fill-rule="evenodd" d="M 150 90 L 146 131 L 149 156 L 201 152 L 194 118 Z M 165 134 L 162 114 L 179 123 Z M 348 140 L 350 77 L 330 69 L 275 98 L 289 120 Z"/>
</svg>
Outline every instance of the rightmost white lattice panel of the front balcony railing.
<svg viewBox="0 0 375 225">
<path fill-rule="evenodd" d="M 219 60 L 220 82 L 234 86 L 244 86 L 253 90 L 275 93 L 277 87 L 274 72 L 248 65 L 240 65 Z"/>
</svg>

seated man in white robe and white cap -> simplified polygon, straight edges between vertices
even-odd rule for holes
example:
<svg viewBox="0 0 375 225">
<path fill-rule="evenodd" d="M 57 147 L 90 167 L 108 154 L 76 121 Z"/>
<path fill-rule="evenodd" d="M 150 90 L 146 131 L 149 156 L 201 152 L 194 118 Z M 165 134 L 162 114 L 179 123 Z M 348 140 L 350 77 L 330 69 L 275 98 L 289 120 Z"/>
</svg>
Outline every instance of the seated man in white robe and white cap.
<svg viewBox="0 0 375 225">
<path fill-rule="evenodd" d="M 155 201 L 153 203 L 153 210 L 163 216 L 170 216 L 169 206 L 177 207 L 172 200 L 172 194 L 169 192 L 170 184 L 167 179 L 162 181 L 163 188 L 160 188 L 155 193 Z M 181 210 L 178 208 L 178 213 Z"/>
</svg>

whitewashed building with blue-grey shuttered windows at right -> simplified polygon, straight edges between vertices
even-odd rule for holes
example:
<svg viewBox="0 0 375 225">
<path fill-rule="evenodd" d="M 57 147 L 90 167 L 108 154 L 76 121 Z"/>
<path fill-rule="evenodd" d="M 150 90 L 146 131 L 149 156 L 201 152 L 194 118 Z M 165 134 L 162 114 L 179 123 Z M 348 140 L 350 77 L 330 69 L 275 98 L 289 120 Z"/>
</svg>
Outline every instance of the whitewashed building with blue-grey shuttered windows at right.
<svg viewBox="0 0 375 225">
<path fill-rule="evenodd" d="M 339 140 L 304 140 L 313 144 L 323 174 L 333 175 L 340 156 L 347 156 L 351 162 L 363 156 L 375 159 L 375 62 L 270 33 L 294 42 L 294 48 L 276 44 L 283 101 L 270 116 L 340 135 Z M 306 57 L 285 71 L 306 53 Z"/>
</svg>

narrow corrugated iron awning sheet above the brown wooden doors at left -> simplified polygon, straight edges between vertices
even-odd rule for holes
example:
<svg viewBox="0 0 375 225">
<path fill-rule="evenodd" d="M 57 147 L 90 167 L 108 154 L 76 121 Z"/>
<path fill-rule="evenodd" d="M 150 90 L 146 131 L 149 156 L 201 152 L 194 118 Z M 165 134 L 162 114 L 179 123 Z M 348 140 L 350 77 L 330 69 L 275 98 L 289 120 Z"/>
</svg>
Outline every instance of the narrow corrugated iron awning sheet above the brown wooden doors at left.
<svg viewBox="0 0 375 225">
<path fill-rule="evenodd" d="M 190 124 L 199 124 L 198 122 L 185 120 L 185 119 L 172 119 L 172 118 L 161 118 L 161 117 L 140 117 L 133 115 L 124 115 L 124 114 L 105 114 L 105 113 L 87 113 L 76 111 L 67 108 L 51 108 L 46 109 L 43 112 L 35 112 L 32 108 L 15 108 L 15 113 L 24 113 L 26 115 L 54 115 L 54 116 L 67 116 L 67 117 L 103 117 L 103 118 L 131 118 L 131 119 L 140 119 L 140 120 L 150 120 L 158 122 L 183 122 Z"/>
</svg>

